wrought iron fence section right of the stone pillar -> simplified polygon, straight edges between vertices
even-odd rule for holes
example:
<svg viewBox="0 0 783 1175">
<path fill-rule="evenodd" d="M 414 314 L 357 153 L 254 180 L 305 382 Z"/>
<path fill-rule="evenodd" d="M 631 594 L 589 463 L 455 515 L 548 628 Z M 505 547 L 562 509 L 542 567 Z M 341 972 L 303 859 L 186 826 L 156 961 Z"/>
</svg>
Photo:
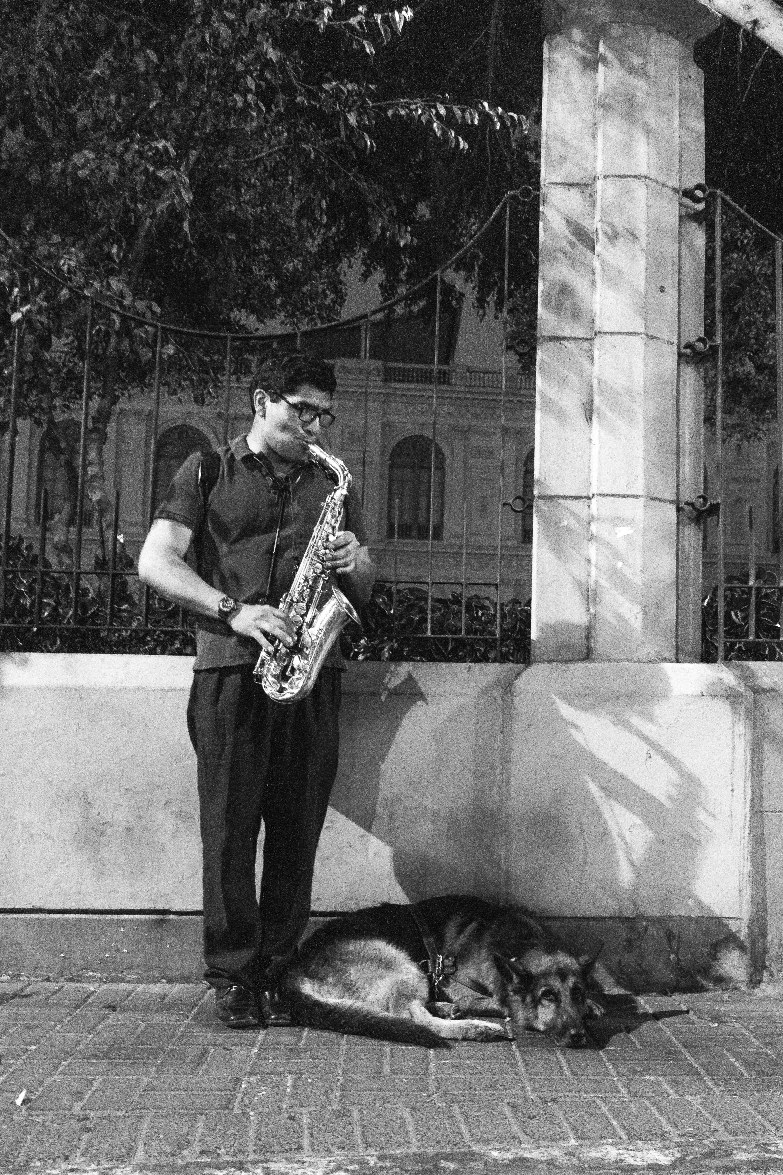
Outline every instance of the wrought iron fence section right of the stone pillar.
<svg viewBox="0 0 783 1175">
<path fill-rule="evenodd" d="M 707 424 L 714 430 L 711 478 L 706 463 L 704 492 L 689 504 L 706 548 L 702 659 L 781 660 L 783 240 L 721 192 L 689 189 L 683 202 L 711 229 L 706 334 L 681 347 L 684 361 L 704 364 Z M 742 472 L 743 445 L 762 469 Z"/>
</svg>

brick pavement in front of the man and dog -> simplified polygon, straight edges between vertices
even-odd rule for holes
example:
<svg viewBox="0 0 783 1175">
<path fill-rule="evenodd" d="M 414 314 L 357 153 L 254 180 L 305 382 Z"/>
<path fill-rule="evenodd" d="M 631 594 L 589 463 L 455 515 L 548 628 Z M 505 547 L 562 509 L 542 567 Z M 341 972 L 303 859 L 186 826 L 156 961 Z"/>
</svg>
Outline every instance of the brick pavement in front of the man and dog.
<svg viewBox="0 0 783 1175">
<path fill-rule="evenodd" d="M 783 1171 L 779 991 L 607 1003 L 583 1050 L 433 1053 L 229 1032 L 196 983 L 0 982 L 0 1171 Z"/>
</svg>

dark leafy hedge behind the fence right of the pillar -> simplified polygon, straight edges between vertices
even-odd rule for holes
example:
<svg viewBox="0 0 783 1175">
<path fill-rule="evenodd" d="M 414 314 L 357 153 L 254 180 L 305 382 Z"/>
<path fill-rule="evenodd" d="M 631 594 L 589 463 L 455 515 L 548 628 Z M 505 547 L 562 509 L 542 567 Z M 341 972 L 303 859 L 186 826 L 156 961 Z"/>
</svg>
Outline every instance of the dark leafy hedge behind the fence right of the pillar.
<svg viewBox="0 0 783 1175">
<path fill-rule="evenodd" d="M 727 639 L 748 637 L 750 595 L 747 580 L 727 576 L 723 607 Z M 777 586 L 775 572 L 758 568 L 754 588 L 755 632 L 763 643 L 729 644 L 725 646 L 725 660 L 783 660 L 783 647 L 771 643 L 781 639 L 782 596 L 783 589 Z M 717 588 L 713 588 L 702 603 L 702 660 L 717 660 Z"/>
</svg>

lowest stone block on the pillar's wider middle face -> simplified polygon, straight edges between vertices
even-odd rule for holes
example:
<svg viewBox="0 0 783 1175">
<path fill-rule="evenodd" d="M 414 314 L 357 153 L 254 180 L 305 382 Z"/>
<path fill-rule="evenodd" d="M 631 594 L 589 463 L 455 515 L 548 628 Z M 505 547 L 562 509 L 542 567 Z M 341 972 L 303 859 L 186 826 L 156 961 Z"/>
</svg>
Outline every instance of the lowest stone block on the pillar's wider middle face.
<svg viewBox="0 0 783 1175">
<path fill-rule="evenodd" d="M 601 497 L 594 504 L 593 627 L 599 662 L 674 662 L 674 505 Z"/>
</svg>

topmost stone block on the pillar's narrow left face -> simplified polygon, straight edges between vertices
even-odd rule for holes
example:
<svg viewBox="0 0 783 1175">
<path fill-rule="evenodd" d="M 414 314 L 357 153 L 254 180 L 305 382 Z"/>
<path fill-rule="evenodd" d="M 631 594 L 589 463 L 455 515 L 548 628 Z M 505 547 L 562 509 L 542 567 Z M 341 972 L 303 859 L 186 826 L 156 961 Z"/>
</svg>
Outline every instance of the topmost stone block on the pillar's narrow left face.
<svg viewBox="0 0 783 1175">
<path fill-rule="evenodd" d="M 544 45 L 542 183 L 592 184 L 598 41 L 575 28 Z"/>
</svg>

